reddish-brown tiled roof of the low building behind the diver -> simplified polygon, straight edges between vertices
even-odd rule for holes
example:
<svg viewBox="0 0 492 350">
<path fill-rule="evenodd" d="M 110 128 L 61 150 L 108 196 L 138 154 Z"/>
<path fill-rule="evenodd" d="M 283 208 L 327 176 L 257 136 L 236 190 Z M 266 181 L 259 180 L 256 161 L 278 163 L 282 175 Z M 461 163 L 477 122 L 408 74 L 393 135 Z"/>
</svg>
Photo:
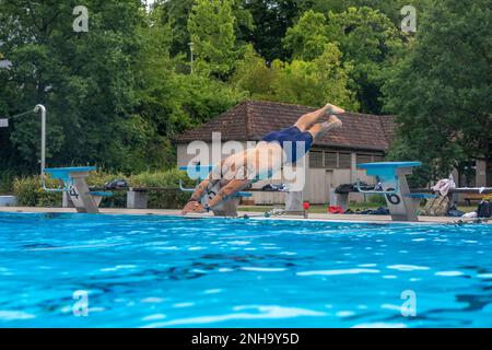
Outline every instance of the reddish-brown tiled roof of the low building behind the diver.
<svg viewBox="0 0 492 350">
<path fill-rule="evenodd" d="M 175 140 L 211 141 L 212 132 L 221 132 L 223 141 L 258 141 L 266 133 L 293 125 L 303 114 L 316 108 L 278 102 L 246 101 L 208 122 L 186 131 Z M 340 116 L 343 128 L 326 135 L 317 145 L 385 151 L 394 136 L 393 116 L 345 113 Z"/>
</svg>

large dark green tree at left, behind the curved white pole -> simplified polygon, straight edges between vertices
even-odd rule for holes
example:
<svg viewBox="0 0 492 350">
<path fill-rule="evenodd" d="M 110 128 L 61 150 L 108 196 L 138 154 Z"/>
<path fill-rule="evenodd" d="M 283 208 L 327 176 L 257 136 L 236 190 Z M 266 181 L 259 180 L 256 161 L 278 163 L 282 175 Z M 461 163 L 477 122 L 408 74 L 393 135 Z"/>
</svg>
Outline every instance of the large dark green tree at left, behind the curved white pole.
<svg viewBox="0 0 492 350">
<path fill-rule="evenodd" d="M 14 96 L 3 114 L 43 103 L 48 108 L 51 165 L 97 162 L 109 167 L 128 163 L 125 151 L 133 94 L 134 52 L 140 39 L 140 1 L 86 1 L 87 33 L 75 33 L 77 1 L 2 1 L 0 40 L 12 62 L 0 72 L 4 96 Z M 34 170 L 39 156 L 39 122 L 14 121 L 10 140 L 19 166 Z"/>
</svg>

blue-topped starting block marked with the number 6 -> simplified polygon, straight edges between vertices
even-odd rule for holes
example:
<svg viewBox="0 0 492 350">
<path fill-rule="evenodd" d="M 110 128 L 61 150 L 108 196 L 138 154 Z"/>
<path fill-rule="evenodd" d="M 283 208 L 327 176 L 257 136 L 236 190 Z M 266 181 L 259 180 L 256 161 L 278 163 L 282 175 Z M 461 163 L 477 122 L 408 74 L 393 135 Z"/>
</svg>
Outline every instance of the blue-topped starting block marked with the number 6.
<svg viewBox="0 0 492 350">
<path fill-rule="evenodd" d="M 380 162 L 358 164 L 370 176 L 376 176 L 380 183 L 380 190 L 363 190 L 358 180 L 358 189 L 361 194 L 384 195 L 394 221 L 419 221 L 417 218 L 417 203 L 422 198 L 434 197 L 426 194 L 411 194 L 407 183 L 407 175 L 413 173 L 413 168 L 421 166 L 420 162 Z"/>
</svg>

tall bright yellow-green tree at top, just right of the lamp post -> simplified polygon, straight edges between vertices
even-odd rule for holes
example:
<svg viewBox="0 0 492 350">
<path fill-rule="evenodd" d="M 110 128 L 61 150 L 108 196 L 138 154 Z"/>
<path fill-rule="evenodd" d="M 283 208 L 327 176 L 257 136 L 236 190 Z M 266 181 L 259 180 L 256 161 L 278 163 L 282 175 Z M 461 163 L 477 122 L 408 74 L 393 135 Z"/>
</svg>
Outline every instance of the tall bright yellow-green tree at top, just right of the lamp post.
<svg viewBox="0 0 492 350">
<path fill-rule="evenodd" d="M 232 0 L 196 0 L 188 31 L 196 52 L 196 71 L 221 80 L 232 73 L 237 58 Z"/>
</svg>

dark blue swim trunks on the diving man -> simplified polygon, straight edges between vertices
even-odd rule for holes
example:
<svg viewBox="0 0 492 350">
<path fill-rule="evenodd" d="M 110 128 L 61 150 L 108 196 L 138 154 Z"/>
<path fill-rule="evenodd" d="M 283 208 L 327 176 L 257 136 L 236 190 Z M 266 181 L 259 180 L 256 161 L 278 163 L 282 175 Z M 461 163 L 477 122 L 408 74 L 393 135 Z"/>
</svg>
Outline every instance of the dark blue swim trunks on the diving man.
<svg viewBox="0 0 492 350">
<path fill-rule="evenodd" d="M 313 145 L 313 136 L 293 126 L 280 131 L 267 133 L 261 141 L 277 142 L 286 153 L 288 163 L 295 163 L 303 158 Z"/>
</svg>

